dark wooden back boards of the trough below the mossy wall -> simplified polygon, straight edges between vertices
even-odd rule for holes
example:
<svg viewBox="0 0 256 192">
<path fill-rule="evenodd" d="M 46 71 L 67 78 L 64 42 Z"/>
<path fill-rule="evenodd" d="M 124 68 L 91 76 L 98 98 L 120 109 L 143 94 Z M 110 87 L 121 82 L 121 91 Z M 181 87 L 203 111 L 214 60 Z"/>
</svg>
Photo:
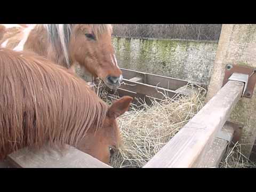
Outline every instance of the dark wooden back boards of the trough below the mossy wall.
<svg viewBox="0 0 256 192">
<path fill-rule="evenodd" d="M 187 85 L 197 84 L 206 89 L 206 84 L 194 83 L 177 78 L 165 77 L 143 73 L 140 71 L 121 68 L 123 73 L 123 84 L 117 89 L 120 97 L 130 95 L 133 98 L 141 99 L 150 104 L 150 98 L 162 100 L 165 97 L 174 98 L 175 96 L 189 95 L 190 90 L 186 89 Z M 114 90 L 109 90 L 111 94 Z"/>
</svg>

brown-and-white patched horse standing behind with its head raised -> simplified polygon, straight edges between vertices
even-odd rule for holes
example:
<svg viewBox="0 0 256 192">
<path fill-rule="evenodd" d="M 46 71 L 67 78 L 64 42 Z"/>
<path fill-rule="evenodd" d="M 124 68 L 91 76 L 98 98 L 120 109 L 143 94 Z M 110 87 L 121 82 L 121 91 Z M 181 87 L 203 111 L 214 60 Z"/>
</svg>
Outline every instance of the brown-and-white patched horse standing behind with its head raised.
<svg viewBox="0 0 256 192">
<path fill-rule="evenodd" d="M 3 37 L 1 47 L 29 50 L 75 72 L 82 70 L 99 77 L 110 88 L 121 85 L 122 71 L 117 65 L 108 24 L 47 24 L 20 28 L 20 33 Z M 86 79 L 87 80 L 87 79 Z"/>
</svg>

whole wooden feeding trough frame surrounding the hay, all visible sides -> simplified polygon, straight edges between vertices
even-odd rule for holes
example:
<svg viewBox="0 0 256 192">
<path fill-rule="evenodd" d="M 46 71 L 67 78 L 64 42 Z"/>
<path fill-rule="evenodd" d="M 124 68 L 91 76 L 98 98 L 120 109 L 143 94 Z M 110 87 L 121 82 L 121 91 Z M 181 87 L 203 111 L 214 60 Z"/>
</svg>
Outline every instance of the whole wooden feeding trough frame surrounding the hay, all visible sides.
<svg viewBox="0 0 256 192">
<path fill-rule="evenodd" d="M 148 102 L 150 99 L 147 98 L 161 100 L 166 94 L 168 97 L 189 94 L 182 87 L 193 84 L 134 70 L 122 71 L 124 84 L 117 90 L 119 95 L 131 95 Z M 231 140 L 239 138 L 242 126 L 227 120 L 242 97 L 244 86 L 241 81 L 228 81 L 144 167 L 217 167 Z M 111 167 L 73 147 L 68 147 L 63 154 L 47 147 L 20 149 L 10 154 L 0 166 Z"/>
</svg>

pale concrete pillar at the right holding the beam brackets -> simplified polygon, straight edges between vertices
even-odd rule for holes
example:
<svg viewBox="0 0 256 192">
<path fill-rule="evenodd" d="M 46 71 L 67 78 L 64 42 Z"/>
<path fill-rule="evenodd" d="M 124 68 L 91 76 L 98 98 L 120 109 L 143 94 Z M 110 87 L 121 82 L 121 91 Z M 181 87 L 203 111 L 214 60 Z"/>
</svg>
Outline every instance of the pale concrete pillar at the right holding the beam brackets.
<svg viewBox="0 0 256 192">
<path fill-rule="evenodd" d="M 256 68 L 256 25 L 222 25 L 206 101 L 222 86 L 228 64 Z M 255 74 L 256 75 L 256 74 Z M 242 98 L 230 115 L 230 121 L 244 124 L 241 143 L 253 144 L 256 137 L 256 89 L 251 99 Z M 242 153 L 250 156 L 252 145 L 243 145 Z"/>
</svg>

